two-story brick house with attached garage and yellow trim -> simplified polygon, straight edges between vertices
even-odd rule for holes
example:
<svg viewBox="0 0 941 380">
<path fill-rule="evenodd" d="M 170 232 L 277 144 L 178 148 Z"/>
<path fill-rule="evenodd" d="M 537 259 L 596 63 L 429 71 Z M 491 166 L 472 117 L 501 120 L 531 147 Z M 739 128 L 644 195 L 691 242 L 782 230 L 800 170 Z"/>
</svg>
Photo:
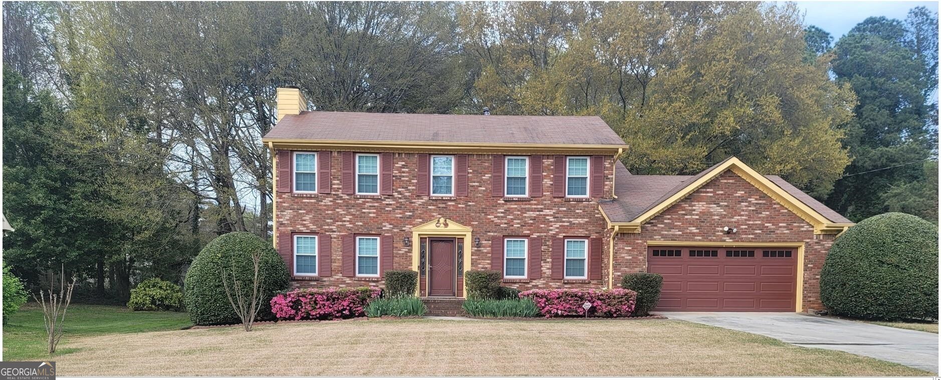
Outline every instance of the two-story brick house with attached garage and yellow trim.
<svg viewBox="0 0 941 380">
<path fill-rule="evenodd" d="M 853 223 L 731 157 L 695 176 L 632 175 L 598 117 L 313 112 L 278 90 L 274 242 L 295 287 L 464 297 L 495 269 L 520 290 L 664 277 L 659 309 L 820 309 L 829 246 Z"/>
</svg>

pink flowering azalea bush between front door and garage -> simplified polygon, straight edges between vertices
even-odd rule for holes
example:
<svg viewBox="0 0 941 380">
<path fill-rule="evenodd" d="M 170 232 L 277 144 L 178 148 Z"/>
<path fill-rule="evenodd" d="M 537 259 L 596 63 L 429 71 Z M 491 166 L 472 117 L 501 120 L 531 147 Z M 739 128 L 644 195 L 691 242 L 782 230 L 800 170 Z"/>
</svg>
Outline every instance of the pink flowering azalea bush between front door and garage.
<svg viewBox="0 0 941 380">
<path fill-rule="evenodd" d="M 535 307 L 546 318 L 584 316 L 582 305 L 588 302 L 592 308 L 589 315 L 603 314 L 607 317 L 627 317 L 634 311 L 637 293 L 627 289 L 555 289 L 519 293 L 519 297 L 531 298 Z"/>
</svg>

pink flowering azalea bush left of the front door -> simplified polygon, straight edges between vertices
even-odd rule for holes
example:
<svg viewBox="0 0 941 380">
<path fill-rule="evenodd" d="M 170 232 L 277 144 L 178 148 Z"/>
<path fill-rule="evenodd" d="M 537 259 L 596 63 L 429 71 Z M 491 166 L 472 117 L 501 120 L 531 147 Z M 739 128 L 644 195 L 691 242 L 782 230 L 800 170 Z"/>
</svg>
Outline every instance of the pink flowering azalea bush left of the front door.
<svg viewBox="0 0 941 380">
<path fill-rule="evenodd" d="M 380 293 L 376 287 L 296 289 L 271 298 L 271 312 L 279 320 L 295 321 L 362 317 Z"/>
</svg>

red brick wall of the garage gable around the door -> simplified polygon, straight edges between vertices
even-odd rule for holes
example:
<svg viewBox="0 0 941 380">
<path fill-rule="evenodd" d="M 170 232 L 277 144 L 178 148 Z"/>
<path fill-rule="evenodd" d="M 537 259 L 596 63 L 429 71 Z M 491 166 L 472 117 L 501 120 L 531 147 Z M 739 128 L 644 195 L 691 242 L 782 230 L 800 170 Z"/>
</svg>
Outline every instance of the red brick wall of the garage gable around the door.
<svg viewBox="0 0 941 380">
<path fill-rule="evenodd" d="M 723 227 L 738 232 L 726 235 Z M 614 238 L 614 284 L 627 273 L 646 272 L 647 241 L 804 242 L 804 309 L 822 309 L 820 270 L 834 235 L 814 235 L 814 228 L 773 198 L 726 171 L 662 214 L 640 233 Z"/>
</svg>

